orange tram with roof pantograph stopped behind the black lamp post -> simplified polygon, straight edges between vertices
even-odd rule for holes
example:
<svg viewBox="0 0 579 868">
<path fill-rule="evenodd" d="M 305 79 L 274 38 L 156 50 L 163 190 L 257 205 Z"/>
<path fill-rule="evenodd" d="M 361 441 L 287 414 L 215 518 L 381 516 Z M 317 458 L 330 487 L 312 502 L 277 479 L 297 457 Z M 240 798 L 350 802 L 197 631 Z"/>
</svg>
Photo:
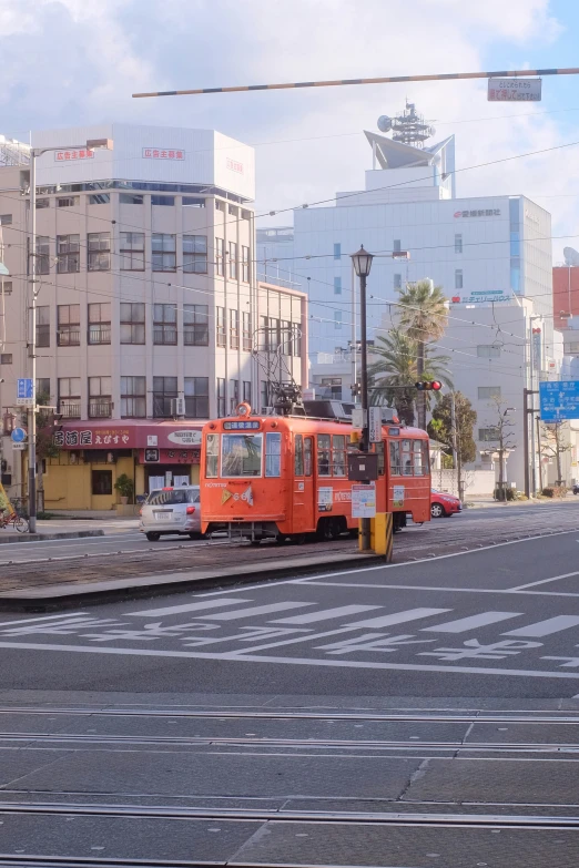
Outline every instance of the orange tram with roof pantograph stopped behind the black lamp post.
<svg viewBox="0 0 579 868">
<path fill-rule="evenodd" d="M 307 416 L 237 416 L 203 427 L 202 530 L 227 530 L 260 542 L 275 538 L 332 540 L 356 531 L 347 455 L 356 449 L 351 422 Z M 354 435 L 354 437 L 353 437 Z M 430 520 L 428 435 L 384 423 L 377 452 L 377 512 L 394 513 L 394 529 Z"/>
</svg>

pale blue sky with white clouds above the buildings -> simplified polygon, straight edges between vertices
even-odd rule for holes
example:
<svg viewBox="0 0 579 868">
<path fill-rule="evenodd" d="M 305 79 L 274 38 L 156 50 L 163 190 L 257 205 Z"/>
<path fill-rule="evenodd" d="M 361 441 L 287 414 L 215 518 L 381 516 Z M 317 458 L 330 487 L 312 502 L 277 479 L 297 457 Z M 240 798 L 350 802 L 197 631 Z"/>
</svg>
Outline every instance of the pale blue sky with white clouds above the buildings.
<svg viewBox="0 0 579 868">
<path fill-rule="evenodd" d="M 0 133 L 28 141 L 31 129 L 109 121 L 213 127 L 255 146 L 256 210 L 267 213 L 363 187 L 363 130 L 408 98 L 436 126 L 431 141 L 455 133 L 457 194 L 535 198 L 552 214 L 560 262 L 563 246 L 579 249 L 578 76 L 545 78 L 534 105 L 488 103 L 486 81 L 131 93 L 573 67 L 578 34 L 576 0 L 0 0 Z"/>
</svg>

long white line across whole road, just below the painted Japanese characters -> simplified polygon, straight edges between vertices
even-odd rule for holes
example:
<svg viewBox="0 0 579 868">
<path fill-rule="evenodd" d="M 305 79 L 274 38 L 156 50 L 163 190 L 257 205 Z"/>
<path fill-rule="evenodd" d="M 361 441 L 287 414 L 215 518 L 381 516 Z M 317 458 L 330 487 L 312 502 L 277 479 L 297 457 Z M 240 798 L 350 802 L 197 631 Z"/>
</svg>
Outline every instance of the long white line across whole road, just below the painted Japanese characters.
<svg viewBox="0 0 579 868">
<path fill-rule="evenodd" d="M 337 632 L 337 631 L 336 631 Z M 327 634 L 326 634 L 327 635 Z M 577 681 L 579 673 L 575 672 L 541 672 L 536 670 L 507 670 L 507 668 L 487 668 L 482 666 L 430 666 L 427 664 L 413 664 L 413 663 L 383 663 L 377 662 L 363 662 L 354 660 L 308 660 L 305 657 L 270 657 L 260 656 L 258 654 L 210 654 L 199 651 L 161 651 L 152 649 L 111 649 L 111 647 L 94 647 L 84 645 L 51 645 L 51 644 L 35 644 L 32 642 L 0 642 L 1 649 L 14 650 L 20 649 L 23 651 L 60 651 L 64 653 L 73 654 L 112 654 L 119 656 L 138 656 L 138 657 L 182 657 L 184 660 L 219 660 L 225 663 L 233 662 L 251 662 L 251 663 L 283 663 L 285 665 L 296 666 L 331 666 L 331 667 L 345 667 L 345 668 L 363 668 L 363 670 L 399 670 L 403 672 L 446 672 L 446 673 L 459 673 L 467 675 L 492 675 L 492 676 L 511 676 L 524 678 L 563 678 Z M 468 745 L 467 745 L 468 747 Z M 535 760 L 534 760 L 535 762 Z M 561 760 L 557 760 L 561 762 Z M 577 762 L 577 760 L 576 760 Z"/>
</svg>

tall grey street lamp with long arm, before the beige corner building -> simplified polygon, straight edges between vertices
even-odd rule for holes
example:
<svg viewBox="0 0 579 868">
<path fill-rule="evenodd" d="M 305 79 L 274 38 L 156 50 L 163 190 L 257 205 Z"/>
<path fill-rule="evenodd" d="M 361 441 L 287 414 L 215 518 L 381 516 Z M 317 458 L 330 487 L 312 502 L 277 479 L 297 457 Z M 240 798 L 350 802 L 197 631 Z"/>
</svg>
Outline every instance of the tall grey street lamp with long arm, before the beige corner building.
<svg viewBox="0 0 579 868">
<path fill-rule="evenodd" d="M 28 512 L 29 531 L 37 531 L 37 159 L 51 151 L 112 151 L 111 139 L 88 139 L 82 145 L 30 149 L 30 283 L 32 284 L 30 305 L 30 355 L 32 358 L 32 407 L 28 409 Z"/>
</svg>

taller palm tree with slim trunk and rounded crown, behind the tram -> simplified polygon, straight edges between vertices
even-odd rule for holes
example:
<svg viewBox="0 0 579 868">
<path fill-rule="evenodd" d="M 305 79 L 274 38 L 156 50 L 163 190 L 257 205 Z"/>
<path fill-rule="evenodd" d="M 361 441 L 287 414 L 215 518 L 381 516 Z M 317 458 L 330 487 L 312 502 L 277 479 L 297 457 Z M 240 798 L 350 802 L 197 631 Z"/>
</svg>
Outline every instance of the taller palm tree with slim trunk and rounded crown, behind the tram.
<svg viewBox="0 0 579 868">
<path fill-rule="evenodd" d="M 425 379 L 426 345 L 443 337 L 448 310 L 441 286 L 433 286 L 430 280 L 417 280 L 406 284 L 400 294 L 400 326 L 409 338 L 416 341 L 417 380 Z M 418 426 L 426 428 L 425 392 L 419 392 Z"/>
</svg>

